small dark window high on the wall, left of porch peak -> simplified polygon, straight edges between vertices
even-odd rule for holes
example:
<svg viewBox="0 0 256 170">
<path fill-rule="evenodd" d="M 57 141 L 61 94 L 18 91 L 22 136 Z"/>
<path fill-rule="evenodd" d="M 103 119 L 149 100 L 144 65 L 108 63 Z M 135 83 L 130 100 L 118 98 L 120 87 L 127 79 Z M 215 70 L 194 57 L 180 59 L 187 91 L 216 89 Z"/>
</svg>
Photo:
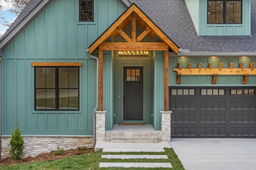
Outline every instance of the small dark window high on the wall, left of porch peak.
<svg viewBox="0 0 256 170">
<path fill-rule="evenodd" d="M 79 0 L 79 21 L 93 21 L 93 0 Z"/>
</svg>

